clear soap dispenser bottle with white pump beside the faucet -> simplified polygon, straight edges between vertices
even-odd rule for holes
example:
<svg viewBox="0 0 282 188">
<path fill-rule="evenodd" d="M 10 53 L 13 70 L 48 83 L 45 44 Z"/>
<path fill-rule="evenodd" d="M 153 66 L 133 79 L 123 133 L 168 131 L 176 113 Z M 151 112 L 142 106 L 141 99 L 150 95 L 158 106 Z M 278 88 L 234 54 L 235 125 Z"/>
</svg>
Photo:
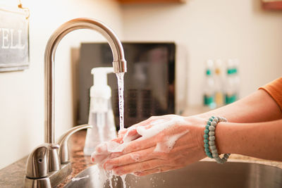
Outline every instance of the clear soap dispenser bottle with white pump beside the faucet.
<svg viewBox="0 0 282 188">
<path fill-rule="evenodd" d="M 90 112 L 84 153 L 90 156 L 95 147 L 101 143 L 116 138 L 114 113 L 111 107 L 111 87 L 107 84 L 108 73 L 114 73 L 113 68 L 92 68 L 94 85 L 90 88 Z"/>
</svg>

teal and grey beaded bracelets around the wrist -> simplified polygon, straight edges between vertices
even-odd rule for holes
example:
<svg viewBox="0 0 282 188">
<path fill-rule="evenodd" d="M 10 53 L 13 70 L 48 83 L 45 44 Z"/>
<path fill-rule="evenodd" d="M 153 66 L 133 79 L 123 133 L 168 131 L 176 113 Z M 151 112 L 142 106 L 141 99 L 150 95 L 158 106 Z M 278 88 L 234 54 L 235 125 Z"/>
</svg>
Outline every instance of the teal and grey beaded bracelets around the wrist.
<svg viewBox="0 0 282 188">
<path fill-rule="evenodd" d="M 216 149 L 216 137 L 214 132 L 216 130 L 216 125 L 219 122 L 227 122 L 227 120 L 226 118 L 212 116 L 207 121 L 206 128 L 204 129 L 204 151 L 209 158 L 214 158 L 217 163 L 223 164 L 226 163 L 230 153 L 226 153 L 223 155 L 223 158 L 220 158 Z"/>
</svg>

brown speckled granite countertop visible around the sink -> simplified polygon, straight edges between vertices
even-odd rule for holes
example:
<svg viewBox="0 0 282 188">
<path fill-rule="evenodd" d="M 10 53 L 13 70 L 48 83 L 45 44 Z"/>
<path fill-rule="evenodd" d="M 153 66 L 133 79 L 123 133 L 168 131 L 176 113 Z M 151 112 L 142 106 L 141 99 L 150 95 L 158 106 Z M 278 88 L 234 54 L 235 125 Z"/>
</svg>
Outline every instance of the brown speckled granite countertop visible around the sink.
<svg viewBox="0 0 282 188">
<path fill-rule="evenodd" d="M 58 184 L 56 187 L 64 187 L 68 182 L 71 182 L 73 177 L 78 175 L 82 170 L 85 170 L 87 167 L 94 165 L 90 161 L 90 156 L 84 156 L 83 146 L 85 142 L 85 130 L 81 130 L 73 134 L 73 136 L 68 141 L 69 148 L 71 149 L 71 163 L 73 166 L 73 171 L 71 175 L 68 175 L 63 182 Z M 8 165 L 8 167 L 0 170 L 0 187 L 23 187 L 23 180 L 25 177 L 25 163 L 26 159 L 22 158 L 16 163 Z M 214 161 L 209 158 L 204 158 L 202 161 Z M 272 165 L 278 168 L 282 168 L 282 162 L 278 161 L 266 161 L 259 158 L 252 158 L 247 156 L 241 156 L 237 154 L 231 154 L 231 157 L 228 161 L 232 162 L 246 162 L 246 163 L 260 163 L 264 165 Z"/>
</svg>

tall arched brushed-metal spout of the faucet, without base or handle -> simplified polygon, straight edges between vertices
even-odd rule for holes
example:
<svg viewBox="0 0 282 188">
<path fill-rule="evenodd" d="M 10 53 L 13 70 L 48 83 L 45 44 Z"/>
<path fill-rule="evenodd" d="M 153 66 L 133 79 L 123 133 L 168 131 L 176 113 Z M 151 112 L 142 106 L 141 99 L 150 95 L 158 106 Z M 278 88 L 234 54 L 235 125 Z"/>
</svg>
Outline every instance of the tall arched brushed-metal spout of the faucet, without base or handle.
<svg viewBox="0 0 282 188">
<path fill-rule="evenodd" d="M 50 144 L 54 144 L 54 60 L 56 47 L 68 32 L 79 29 L 96 30 L 101 33 L 111 46 L 114 73 L 126 72 L 123 46 L 114 32 L 104 23 L 91 18 L 77 18 L 61 25 L 49 38 L 44 54 L 45 142 Z"/>
</svg>

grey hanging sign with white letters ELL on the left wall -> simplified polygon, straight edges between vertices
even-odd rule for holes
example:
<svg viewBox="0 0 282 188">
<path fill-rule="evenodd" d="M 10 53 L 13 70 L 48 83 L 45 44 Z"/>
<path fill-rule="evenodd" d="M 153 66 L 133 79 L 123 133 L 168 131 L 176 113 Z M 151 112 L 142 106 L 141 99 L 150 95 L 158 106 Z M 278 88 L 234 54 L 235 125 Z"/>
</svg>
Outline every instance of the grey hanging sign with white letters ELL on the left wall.
<svg viewBox="0 0 282 188">
<path fill-rule="evenodd" d="M 29 11 L 0 6 L 0 72 L 24 70 L 30 63 Z"/>
</svg>

